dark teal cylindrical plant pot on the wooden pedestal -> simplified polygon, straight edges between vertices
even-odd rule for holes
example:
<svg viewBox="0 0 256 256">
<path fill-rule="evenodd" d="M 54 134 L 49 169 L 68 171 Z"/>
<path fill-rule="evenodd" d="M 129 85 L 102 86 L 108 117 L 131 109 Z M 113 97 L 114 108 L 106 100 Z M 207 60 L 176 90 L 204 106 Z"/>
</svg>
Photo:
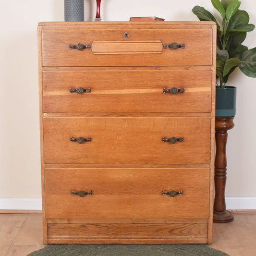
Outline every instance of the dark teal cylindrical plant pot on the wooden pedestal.
<svg viewBox="0 0 256 256">
<path fill-rule="evenodd" d="M 231 117 L 235 115 L 236 87 L 216 87 L 216 117 Z"/>
</svg>

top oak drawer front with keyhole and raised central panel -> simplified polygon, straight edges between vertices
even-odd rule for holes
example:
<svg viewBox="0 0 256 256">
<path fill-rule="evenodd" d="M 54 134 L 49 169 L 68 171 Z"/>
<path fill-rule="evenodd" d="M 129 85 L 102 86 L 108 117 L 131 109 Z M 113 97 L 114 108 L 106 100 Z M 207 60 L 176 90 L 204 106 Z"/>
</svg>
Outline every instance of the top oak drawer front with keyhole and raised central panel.
<svg viewBox="0 0 256 256">
<path fill-rule="evenodd" d="M 124 33 L 129 38 L 124 39 Z M 43 30 L 43 66 L 211 66 L 212 29 Z M 163 45 L 184 44 L 184 48 Z M 70 49 L 70 45 L 90 49 Z M 143 48 L 145 46 L 145 49 Z"/>
</svg>

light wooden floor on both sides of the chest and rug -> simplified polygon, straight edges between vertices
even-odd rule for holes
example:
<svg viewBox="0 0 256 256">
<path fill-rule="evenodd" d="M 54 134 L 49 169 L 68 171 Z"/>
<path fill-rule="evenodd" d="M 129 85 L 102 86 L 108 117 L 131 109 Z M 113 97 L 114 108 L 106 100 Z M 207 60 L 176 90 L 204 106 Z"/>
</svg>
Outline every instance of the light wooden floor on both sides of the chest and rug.
<svg viewBox="0 0 256 256">
<path fill-rule="evenodd" d="M 27 256 L 43 248 L 41 214 L 0 214 L 0 256 Z M 214 223 L 213 244 L 229 256 L 256 255 L 256 213 L 234 214 Z"/>
</svg>

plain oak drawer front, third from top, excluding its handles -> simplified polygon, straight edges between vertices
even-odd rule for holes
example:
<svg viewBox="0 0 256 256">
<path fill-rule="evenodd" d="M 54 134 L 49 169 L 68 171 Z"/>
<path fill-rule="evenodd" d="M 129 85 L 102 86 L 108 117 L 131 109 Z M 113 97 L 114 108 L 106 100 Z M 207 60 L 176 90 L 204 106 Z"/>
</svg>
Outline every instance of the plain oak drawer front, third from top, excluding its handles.
<svg viewBox="0 0 256 256">
<path fill-rule="evenodd" d="M 46 164 L 209 163 L 206 117 L 45 117 L 43 126 Z"/>
</svg>

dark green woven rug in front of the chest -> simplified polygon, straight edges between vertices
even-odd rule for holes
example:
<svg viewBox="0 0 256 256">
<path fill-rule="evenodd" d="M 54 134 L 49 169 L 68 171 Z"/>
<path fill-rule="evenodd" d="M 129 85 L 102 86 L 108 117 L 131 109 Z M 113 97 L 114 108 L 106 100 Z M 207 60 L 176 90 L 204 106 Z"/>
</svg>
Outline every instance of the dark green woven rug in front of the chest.
<svg viewBox="0 0 256 256">
<path fill-rule="evenodd" d="M 29 256 L 227 256 L 205 244 L 52 244 Z"/>
</svg>

